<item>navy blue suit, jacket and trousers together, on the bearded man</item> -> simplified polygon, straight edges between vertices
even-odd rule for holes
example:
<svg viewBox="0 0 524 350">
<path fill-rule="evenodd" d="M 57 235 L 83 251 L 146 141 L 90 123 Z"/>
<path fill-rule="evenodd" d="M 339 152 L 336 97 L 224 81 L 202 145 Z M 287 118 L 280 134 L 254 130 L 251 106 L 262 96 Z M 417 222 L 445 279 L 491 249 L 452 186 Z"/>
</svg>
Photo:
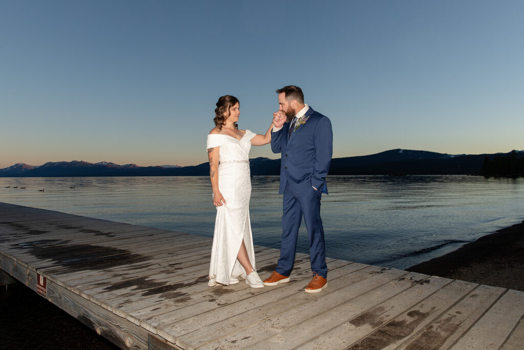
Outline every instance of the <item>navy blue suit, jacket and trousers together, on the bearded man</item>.
<svg viewBox="0 0 524 350">
<path fill-rule="evenodd" d="M 333 130 L 329 118 L 311 107 L 302 119 L 305 123 L 289 137 L 290 122 L 271 133 L 271 150 L 281 153 L 279 193 L 283 194 L 282 240 L 275 270 L 290 275 L 303 216 L 309 235 L 311 270 L 326 278 L 320 199 L 322 192 L 328 193 L 325 178 L 333 155 Z"/>
</svg>

